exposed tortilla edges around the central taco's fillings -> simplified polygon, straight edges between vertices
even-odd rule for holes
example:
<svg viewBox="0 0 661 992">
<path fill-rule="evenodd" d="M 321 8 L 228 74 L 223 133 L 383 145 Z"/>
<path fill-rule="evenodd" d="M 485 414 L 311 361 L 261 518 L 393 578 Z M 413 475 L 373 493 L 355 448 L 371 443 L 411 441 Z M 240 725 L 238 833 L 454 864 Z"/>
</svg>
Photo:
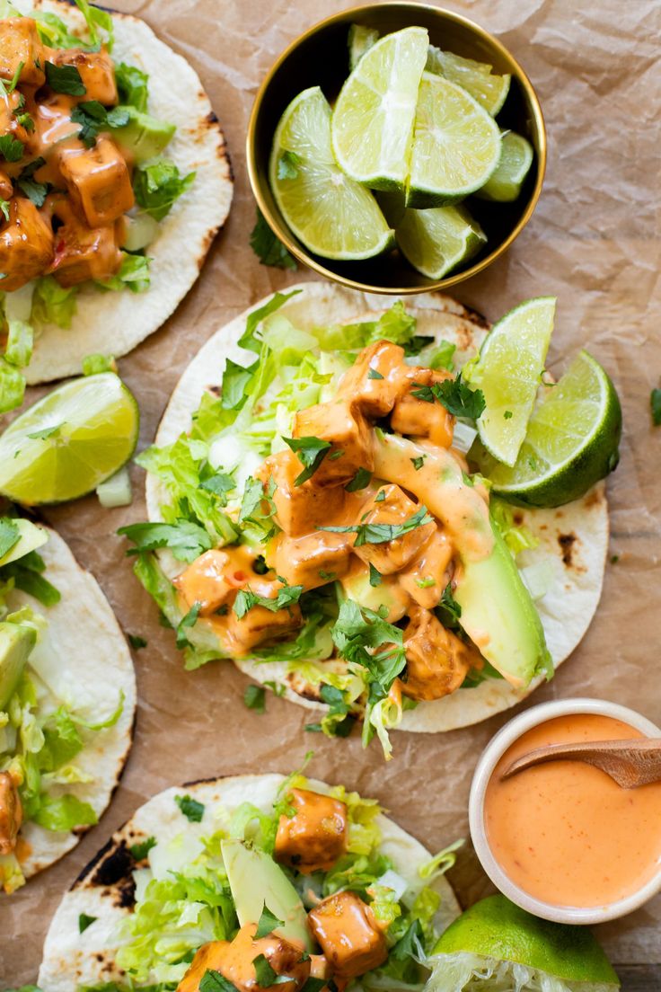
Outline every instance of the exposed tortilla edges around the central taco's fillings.
<svg viewBox="0 0 661 992">
<path fill-rule="evenodd" d="M 291 289 L 302 292 L 287 301 L 278 312 L 303 330 L 373 319 L 393 304 L 391 297 L 356 293 L 326 283 L 306 283 Z M 264 303 L 261 301 L 251 309 L 262 307 Z M 489 324 L 482 317 L 440 294 L 408 297 L 403 303 L 417 318 L 418 334 L 457 345 L 454 357 L 458 367 L 476 354 L 488 333 Z M 191 415 L 203 392 L 220 383 L 228 358 L 242 364 L 254 360 L 252 352 L 244 351 L 237 344 L 244 332 L 248 312 L 250 310 L 217 331 L 193 358 L 172 393 L 156 436 L 157 444 L 168 444 L 190 429 Z M 155 476 L 148 475 L 150 520 L 162 519 L 159 508 L 166 502 L 163 484 Z M 552 563 L 553 583 L 536 605 L 557 668 L 583 638 L 602 594 L 608 547 L 606 485 L 600 482 L 582 499 L 558 509 L 522 509 L 519 522 L 529 527 L 539 541 L 537 548 L 519 556 L 519 565 L 542 559 Z M 168 555 L 161 555 L 160 559 L 170 577 L 184 567 Z M 235 665 L 256 682 L 275 680 L 286 685 L 285 696 L 301 706 L 320 707 L 318 688 L 289 673 L 284 663 L 258 664 L 239 660 Z M 415 709 L 407 710 L 396 729 L 435 733 L 469 726 L 515 706 L 542 681 L 536 679 L 527 688 L 515 689 L 504 680 L 490 679 L 475 688 L 458 689 L 442 699 L 420 702 Z"/>
</svg>

